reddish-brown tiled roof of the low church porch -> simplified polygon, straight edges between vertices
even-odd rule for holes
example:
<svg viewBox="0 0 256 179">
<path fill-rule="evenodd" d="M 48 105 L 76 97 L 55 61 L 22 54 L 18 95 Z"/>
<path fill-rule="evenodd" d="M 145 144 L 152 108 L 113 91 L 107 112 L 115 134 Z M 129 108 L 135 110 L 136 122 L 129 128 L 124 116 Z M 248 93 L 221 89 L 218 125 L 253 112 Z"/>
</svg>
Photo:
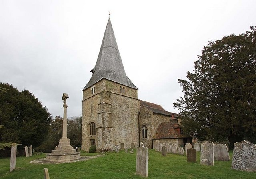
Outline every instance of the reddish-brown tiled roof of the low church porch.
<svg viewBox="0 0 256 179">
<path fill-rule="evenodd" d="M 153 139 L 177 139 L 177 138 L 190 138 L 191 136 L 188 134 L 181 134 L 175 128 L 180 128 L 177 126 L 178 124 L 172 124 L 171 122 L 163 122 L 161 123 L 157 130 L 156 135 L 154 135 Z"/>
</svg>

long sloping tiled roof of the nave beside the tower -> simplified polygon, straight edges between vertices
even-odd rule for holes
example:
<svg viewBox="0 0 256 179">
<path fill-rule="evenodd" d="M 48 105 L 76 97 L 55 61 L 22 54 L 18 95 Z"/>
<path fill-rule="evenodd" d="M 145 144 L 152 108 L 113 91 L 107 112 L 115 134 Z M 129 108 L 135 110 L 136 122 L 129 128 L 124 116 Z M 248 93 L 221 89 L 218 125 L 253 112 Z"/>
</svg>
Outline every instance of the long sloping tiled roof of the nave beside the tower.
<svg viewBox="0 0 256 179">
<path fill-rule="evenodd" d="M 164 108 L 162 108 L 162 106 L 160 106 L 158 104 L 154 104 L 154 103 L 150 103 L 150 102 L 140 100 L 140 107 L 141 108 L 146 107 L 148 110 L 152 111 L 153 113 L 178 117 L 178 114 L 168 112 L 168 111 L 164 110 Z"/>
</svg>

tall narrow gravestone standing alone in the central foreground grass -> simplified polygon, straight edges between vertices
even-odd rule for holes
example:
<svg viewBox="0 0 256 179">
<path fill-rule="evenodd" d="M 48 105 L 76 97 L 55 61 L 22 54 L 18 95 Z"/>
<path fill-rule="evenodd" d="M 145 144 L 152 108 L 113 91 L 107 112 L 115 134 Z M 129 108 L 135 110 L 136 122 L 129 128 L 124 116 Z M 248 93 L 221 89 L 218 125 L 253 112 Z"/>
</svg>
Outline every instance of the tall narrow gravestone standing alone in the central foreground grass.
<svg viewBox="0 0 256 179">
<path fill-rule="evenodd" d="M 140 146 L 136 155 L 136 174 L 148 177 L 148 148 Z"/>
</svg>

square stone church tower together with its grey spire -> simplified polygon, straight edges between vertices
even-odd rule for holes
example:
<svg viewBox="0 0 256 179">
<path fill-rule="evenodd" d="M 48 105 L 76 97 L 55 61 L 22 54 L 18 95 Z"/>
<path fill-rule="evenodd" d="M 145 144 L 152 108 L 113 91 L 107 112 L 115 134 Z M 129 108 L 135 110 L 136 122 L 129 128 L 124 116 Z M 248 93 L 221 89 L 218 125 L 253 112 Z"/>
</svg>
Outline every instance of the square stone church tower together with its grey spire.
<svg viewBox="0 0 256 179">
<path fill-rule="evenodd" d="M 136 86 L 126 76 L 110 18 L 92 77 L 82 100 L 82 150 L 97 151 L 139 143 L 140 101 Z"/>
</svg>

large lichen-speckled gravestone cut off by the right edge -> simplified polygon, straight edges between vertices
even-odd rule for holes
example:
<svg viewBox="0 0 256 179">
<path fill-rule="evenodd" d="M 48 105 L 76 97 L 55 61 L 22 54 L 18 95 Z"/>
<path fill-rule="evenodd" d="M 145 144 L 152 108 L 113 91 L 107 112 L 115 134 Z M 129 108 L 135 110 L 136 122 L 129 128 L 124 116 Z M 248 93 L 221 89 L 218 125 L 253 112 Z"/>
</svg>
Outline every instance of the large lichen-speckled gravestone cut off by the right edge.
<svg viewBox="0 0 256 179">
<path fill-rule="evenodd" d="M 242 171 L 256 171 L 256 144 L 249 141 L 234 144 L 232 168 Z"/>
</svg>

